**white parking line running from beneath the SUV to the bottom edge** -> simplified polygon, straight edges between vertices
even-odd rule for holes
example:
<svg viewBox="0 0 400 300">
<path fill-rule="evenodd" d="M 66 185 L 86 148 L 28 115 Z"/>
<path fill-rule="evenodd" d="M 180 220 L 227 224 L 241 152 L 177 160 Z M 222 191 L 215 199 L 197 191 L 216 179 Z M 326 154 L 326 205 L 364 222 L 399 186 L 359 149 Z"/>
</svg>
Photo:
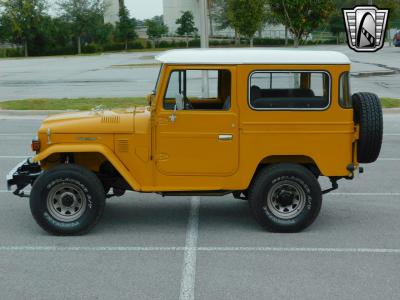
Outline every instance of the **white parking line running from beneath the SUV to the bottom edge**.
<svg viewBox="0 0 400 300">
<path fill-rule="evenodd" d="M 193 300 L 196 282 L 196 250 L 199 233 L 200 197 L 194 196 L 190 200 L 189 221 L 186 231 L 185 254 L 181 278 L 179 300 Z"/>
</svg>

